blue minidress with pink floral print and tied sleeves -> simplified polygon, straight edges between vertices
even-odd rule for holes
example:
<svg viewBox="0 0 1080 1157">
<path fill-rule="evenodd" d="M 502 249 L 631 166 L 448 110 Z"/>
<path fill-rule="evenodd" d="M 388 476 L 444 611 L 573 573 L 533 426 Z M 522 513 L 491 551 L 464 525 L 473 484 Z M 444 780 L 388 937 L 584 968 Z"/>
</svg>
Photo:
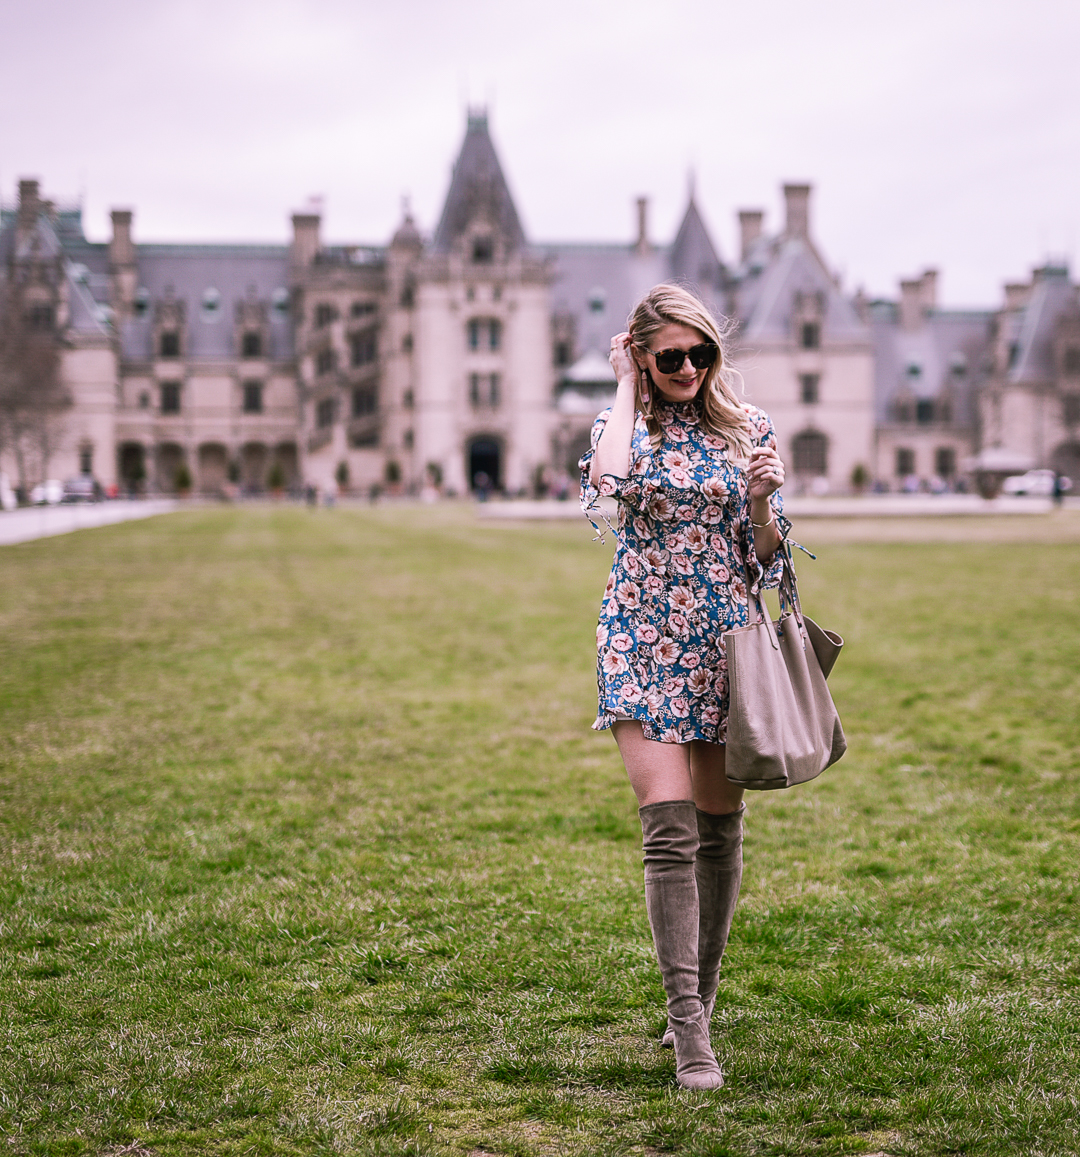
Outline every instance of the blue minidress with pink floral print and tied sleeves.
<svg viewBox="0 0 1080 1157">
<path fill-rule="evenodd" d="M 776 447 L 767 414 L 747 410 L 751 444 Z M 592 449 L 579 464 L 581 507 L 594 525 L 597 499 L 618 502 L 615 561 L 596 628 L 600 706 L 593 728 L 632 718 L 647 739 L 723 743 L 722 636 L 748 622 L 743 565 L 757 590 L 779 584 L 780 561 L 767 572 L 758 562 L 745 471 L 730 460 L 723 439 L 703 427 L 692 401 L 660 401 L 663 441 L 655 450 L 638 414 L 629 476 L 603 474 L 593 486 L 589 466 L 610 414 L 596 418 Z M 786 537 L 791 523 L 779 493 L 770 501 Z"/>
</svg>

